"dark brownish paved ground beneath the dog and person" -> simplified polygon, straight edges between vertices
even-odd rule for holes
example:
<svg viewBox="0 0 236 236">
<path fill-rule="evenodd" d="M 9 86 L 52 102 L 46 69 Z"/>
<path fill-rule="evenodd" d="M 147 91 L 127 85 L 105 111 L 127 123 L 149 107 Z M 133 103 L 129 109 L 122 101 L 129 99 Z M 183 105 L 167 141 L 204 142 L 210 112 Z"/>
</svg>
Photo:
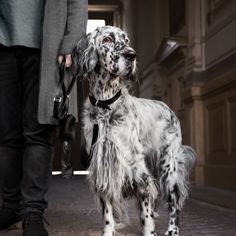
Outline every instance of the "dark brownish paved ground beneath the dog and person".
<svg viewBox="0 0 236 236">
<path fill-rule="evenodd" d="M 53 176 L 45 217 L 50 236 L 100 236 L 101 212 L 84 176 L 71 180 Z M 118 236 L 140 236 L 139 211 L 134 200 L 127 202 L 130 224 L 117 230 Z M 156 230 L 164 236 L 168 206 L 158 207 Z M 0 232 L 1 236 L 22 236 L 21 227 Z M 180 215 L 181 236 L 236 236 L 236 192 L 192 185 L 190 198 Z"/>
</svg>

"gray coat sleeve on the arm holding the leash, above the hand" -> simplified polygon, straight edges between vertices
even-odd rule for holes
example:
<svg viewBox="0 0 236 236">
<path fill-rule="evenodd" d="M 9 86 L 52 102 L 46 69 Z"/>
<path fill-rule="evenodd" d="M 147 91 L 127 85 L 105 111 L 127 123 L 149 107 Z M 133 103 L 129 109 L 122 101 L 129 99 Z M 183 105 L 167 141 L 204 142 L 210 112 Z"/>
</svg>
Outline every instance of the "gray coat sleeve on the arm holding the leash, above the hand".
<svg viewBox="0 0 236 236">
<path fill-rule="evenodd" d="M 67 24 L 58 55 L 70 54 L 78 40 L 86 34 L 88 0 L 67 0 Z"/>
</svg>

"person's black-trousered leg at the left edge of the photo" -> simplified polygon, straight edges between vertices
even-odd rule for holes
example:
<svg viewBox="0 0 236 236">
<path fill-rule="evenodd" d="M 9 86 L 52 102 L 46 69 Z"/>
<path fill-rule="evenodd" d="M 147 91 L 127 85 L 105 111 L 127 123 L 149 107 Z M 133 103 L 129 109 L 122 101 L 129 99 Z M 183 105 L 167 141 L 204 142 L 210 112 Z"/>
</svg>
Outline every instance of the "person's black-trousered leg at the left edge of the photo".
<svg viewBox="0 0 236 236">
<path fill-rule="evenodd" d="M 0 230 L 16 221 L 21 200 L 21 101 L 14 50 L 0 45 Z"/>
</svg>

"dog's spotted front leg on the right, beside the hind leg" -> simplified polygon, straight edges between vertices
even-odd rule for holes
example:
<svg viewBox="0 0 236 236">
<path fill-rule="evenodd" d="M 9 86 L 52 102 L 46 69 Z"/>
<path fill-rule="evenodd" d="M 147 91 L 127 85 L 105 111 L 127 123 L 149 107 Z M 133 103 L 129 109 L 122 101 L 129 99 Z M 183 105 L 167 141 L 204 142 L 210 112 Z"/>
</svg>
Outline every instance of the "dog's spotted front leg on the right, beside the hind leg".
<svg viewBox="0 0 236 236">
<path fill-rule="evenodd" d="M 154 202 L 153 193 L 150 190 L 155 188 L 152 184 L 153 180 L 150 176 L 143 174 L 143 181 L 138 185 L 139 202 L 141 210 L 141 223 L 144 236 L 156 236 L 155 221 L 154 221 Z M 152 190 L 151 190 L 152 191 Z M 156 190 L 153 191 L 156 194 Z M 156 197 L 156 196 L 155 196 Z"/>
</svg>

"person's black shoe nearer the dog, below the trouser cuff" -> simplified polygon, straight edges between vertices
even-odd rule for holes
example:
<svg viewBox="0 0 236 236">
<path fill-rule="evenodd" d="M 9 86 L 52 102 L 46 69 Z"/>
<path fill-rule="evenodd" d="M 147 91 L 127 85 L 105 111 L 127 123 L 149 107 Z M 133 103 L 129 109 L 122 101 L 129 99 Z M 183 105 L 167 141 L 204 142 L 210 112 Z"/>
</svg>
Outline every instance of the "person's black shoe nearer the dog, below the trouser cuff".
<svg viewBox="0 0 236 236">
<path fill-rule="evenodd" d="M 43 213 L 27 212 L 23 216 L 23 235 L 24 236 L 48 236 L 44 227 Z"/>
</svg>

